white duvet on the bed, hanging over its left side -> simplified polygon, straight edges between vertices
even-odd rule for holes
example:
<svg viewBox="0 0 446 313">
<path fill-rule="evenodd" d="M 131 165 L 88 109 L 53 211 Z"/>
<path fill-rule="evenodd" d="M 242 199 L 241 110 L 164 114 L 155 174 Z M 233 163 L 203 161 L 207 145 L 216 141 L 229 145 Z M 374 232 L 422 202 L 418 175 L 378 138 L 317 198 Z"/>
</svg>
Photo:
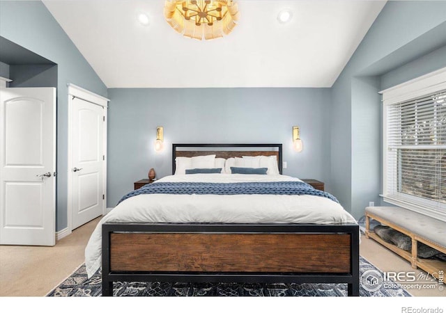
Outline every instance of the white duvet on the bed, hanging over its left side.
<svg viewBox="0 0 446 313">
<path fill-rule="evenodd" d="M 284 182 L 286 175 L 173 175 L 157 182 Z M 102 223 L 356 223 L 341 205 L 317 195 L 135 195 L 104 216 L 85 249 L 89 278 L 100 268 Z"/>
</svg>

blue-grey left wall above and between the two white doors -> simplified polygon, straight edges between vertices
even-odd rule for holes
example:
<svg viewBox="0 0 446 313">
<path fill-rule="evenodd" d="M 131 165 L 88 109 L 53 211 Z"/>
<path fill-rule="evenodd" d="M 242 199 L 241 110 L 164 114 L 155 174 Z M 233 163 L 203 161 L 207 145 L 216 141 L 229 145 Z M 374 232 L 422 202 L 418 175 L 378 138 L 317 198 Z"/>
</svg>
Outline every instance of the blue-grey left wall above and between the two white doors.
<svg viewBox="0 0 446 313">
<path fill-rule="evenodd" d="M 0 1 L 0 35 L 57 64 L 56 230 L 67 227 L 67 83 L 107 96 L 107 88 L 40 1 Z"/>
</svg>

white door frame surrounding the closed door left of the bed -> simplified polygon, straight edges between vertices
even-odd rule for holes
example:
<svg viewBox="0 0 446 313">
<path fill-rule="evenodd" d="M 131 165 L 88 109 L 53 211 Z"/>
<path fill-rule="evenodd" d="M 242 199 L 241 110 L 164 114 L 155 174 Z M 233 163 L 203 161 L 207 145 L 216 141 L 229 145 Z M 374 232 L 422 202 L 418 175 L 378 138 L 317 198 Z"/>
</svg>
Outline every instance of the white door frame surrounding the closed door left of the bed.
<svg viewBox="0 0 446 313">
<path fill-rule="evenodd" d="M 81 88 L 79 86 L 76 86 L 72 83 L 68 83 L 68 194 L 67 194 L 67 227 L 68 227 L 68 233 L 71 234 L 72 232 L 72 207 L 71 207 L 71 187 L 72 187 L 72 125 L 71 125 L 71 118 L 72 118 L 72 99 L 73 97 L 85 100 L 86 102 L 91 102 L 93 104 L 97 104 L 98 106 L 102 106 L 104 108 L 104 123 L 103 123 L 103 148 L 104 148 L 104 155 L 105 160 L 103 162 L 102 167 L 102 173 L 103 173 L 103 191 L 102 194 L 104 195 L 104 202 L 102 206 L 102 215 L 105 215 L 107 213 L 107 109 L 108 109 L 108 102 L 110 101 L 106 97 L 102 97 L 100 95 L 96 95 L 95 93 L 92 93 L 89 90 L 86 90 L 84 88 Z"/>
</svg>

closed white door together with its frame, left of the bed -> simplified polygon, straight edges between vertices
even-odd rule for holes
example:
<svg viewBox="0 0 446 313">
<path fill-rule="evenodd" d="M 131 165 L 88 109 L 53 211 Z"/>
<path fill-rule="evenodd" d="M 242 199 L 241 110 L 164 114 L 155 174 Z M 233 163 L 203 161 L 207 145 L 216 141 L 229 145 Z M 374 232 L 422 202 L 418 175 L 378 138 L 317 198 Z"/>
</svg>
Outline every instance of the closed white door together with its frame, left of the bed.
<svg viewBox="0 0 446 313">
<path fill-rule="evenodd" d="M 68 85 L 68 232 L 106 213 L 108 102 Z"/>
</svg>

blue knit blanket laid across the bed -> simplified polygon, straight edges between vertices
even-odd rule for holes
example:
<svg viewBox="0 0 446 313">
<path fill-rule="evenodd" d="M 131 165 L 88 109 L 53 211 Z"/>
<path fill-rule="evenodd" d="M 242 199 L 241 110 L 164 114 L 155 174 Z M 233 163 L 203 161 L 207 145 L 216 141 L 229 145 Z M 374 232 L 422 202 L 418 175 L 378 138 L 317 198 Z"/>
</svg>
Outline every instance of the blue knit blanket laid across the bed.
<svg viewBox="0 0 446 313">
<path fill-rule="evenodd" d="M 315 189 L 305 182 L 157 182 L 155 184 L 146 184 L 124 195 L 118 204 L 134 195 L 150 193 L 174 195 L 318 195 L 339 203 L 330 193 Z"/>
</svg>

